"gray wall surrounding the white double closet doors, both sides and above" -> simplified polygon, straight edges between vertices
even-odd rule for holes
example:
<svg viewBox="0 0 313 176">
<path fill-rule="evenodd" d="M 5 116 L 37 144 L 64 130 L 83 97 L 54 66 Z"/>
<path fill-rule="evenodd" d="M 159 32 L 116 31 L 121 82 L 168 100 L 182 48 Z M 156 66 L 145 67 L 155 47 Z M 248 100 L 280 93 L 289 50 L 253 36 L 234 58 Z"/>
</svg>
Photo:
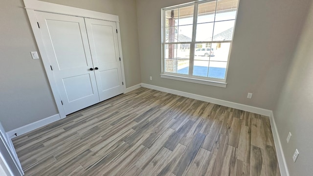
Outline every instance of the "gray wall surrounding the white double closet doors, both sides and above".
<svg viewBox="0 0 313 176">
<path fill-rule="evenodd" d="M 141 83 L 136 4 L 134 0 L 45 0 L 104 13 L 120 19 L 126 87 Z M 0 122 L 10 131 L 57 114 L 22 0 L 0 5 Z"/>
</svg>

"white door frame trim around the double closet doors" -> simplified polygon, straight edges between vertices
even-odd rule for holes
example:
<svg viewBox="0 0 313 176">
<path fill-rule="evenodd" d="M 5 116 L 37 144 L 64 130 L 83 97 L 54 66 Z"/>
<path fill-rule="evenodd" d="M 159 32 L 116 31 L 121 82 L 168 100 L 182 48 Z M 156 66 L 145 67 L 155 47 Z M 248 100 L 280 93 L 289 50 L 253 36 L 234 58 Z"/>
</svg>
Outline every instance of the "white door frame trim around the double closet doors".
<svg viewBox="0 0 313 176">
<path fill-rule="evenodd" d="M 54 14 L 62 14 L 62 15 L 69 15 L 69 16 L 77 16 L 82 18 L 91 18 L 91 19 L 97 19 L 97 20 L 104 20 L 104 21 L 111 21 L 116 22 L 117 30 L 120 31 L 119 27 L 119 18 L 116 15 L 102 13 L 102 12 L 96 12 L 76 7 L 70 7 L 66 5 L 60 5 L 50 2 L 44 2 L 40 0 L 23 0 L 25 4 L 25 9 L 27 12 L 27 16 L 31 25 L 31 28 L 34 33 L 34 37 L 36 40 L 36 43 L 38 45 L 38 49 L 45 67 L 45 72 L 52 90 L 52 94 L 55 100 L 55 103 L 57 105 L 57 109 L 59 111 L 60 117 L 65 118 L 66 113 L 64 110 L 64 107 L 61 103 L 61 97 L 60 93 L 58 91 L 53 72 L 50 68 L 50 62 L 48 59 L 48 55 L 45 51 L 45 45 L 42 40 L 40 29 L 38 28 L 37 19 L 35 15 L 35 11 L 42 11 L 42 12 L 48 12 L 48 13 L 54 13 Z M 121 44 L 121 35 L 120 32 L 117 33 L 118 38 L 118 49 L 119 49 L 119 55 L 121 58 L 121 71 L 122 71 L 122 80 L 124 82 L 123 85 L 123 93 L 126 92 L 126 81 L 125 81 L 125 72 L 124 72 L 124 62 L 123 62 L 123 54 L 122 54 L 122 44 Z"/>
</svg>

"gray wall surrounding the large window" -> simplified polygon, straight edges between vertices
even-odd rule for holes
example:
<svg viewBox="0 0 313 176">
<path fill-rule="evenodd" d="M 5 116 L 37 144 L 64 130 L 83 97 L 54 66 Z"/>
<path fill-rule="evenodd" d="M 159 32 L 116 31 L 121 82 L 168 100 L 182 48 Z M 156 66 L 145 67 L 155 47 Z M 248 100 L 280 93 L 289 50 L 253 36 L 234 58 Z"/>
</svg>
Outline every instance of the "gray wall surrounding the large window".
<svg viewBox="0 0 313 176">
<path fill-rule="evenodd" d="M 143 83 L 273 110 L 291 61 L 308 0 L 241 0 L 227 88 L 160 78 L 161 8 L 192 0 L 137 0 Z M 153 81 L 149 80 L 153 76 Z M 247 93 L 253 93 L 247 99 Z"/>
</svg>

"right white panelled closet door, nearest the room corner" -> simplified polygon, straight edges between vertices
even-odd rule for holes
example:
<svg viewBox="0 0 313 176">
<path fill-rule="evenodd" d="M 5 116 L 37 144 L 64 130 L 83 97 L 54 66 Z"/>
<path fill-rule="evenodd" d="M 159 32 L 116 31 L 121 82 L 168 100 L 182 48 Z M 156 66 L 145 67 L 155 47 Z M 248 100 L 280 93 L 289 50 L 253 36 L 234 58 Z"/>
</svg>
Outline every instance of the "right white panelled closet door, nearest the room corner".
<svg viewBox="0 0 313 176">
<path fill-rule="evenodd" d="M 123 93 L 116 23 L 94 19 L 85 22 L 99 97 L 103 101 Z"/>
</svg>

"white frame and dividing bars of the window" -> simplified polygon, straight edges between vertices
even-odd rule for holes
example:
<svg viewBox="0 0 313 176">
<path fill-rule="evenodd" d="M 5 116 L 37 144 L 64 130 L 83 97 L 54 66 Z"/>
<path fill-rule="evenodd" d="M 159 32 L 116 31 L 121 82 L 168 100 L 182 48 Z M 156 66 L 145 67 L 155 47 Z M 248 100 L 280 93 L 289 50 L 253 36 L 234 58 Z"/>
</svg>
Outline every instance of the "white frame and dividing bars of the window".
<svg viewBox="0 0 313 176">
<path fill-rule="evenodd" d="M 230 53 L 231 53 L 231 48 L 232 48 L 232 42 L 233 42 L 233 37 L 234 37 L 234 32 L 235 32 L 235 26 L 236 26 L 236 21 L 237 21 L 237 14 L 238 14 L 238 6 L 239 6 L 239 0 L 237 4 L 237 10 L 236 10 L 236 16 L 235 16 L 235 23 L 234 23 L 234 30 L 232 34 L 232 39 L 227 40 L 227 41 L 201 41 L 201 42 L 196 42 L 196 31 L 197 31 L 197 18 L 198 18 L 198 5 L 201 3 L 206 3 L 210 1 L 217 1 L 217 0 L 201 0 L 201 1 L 193 1 L 189 3 L 184 3 L 184 4 L 179 4 L 171 7 L 165 7 L 161 9 L 161 52 L 162 52 L 162 73 L 161 73 L 161 78 L 167 78 L 167 79 L 174 79 L 174 80 L 179 80 L 179 81 L 185 81 L 185 82 L 191 82 L 191 83 L 198 83 L 198 84 L 204 84 L 204 85 L 210 85 L 210 86 L 217 86 L 217 87 L 222 87 L 226 88 L 226 77 L 227 77 L 227 70 L 228 70 L 228 64 L 229 64 L 229 58 L 230 58 Z M 168 10 L 174 10 L 177 8 L 182 8 L 186 6 L 194 5 L 194 17 L 193 17 L 193 32 L 192 32 L 192 41 L 191 42 L 165 42 L 165 11 Z M 217 5 L 217 4 L 216 4 Z M 215 11 L 216 15 L 216 11 Z M 230 21 L 230 20 L 225 20 L 225 21 Z M 220 21 L 218 21 L 220 22 Z M 221 21 L 223 22 L 223 21 Z M 215 25 L 215 17 L 214 17 L 214 24 L 213 24 L 213 34 L 214 34 L 214 25 Z M 217 78 L 210 78 L 210 77 L 202 77 L 202 76 L 194 76 L 191 74 L 190 71 L 188 71 L 187 74 L 179 74 L 179 73 L 171 73 L 171 72 L 165 72 L 165 44 L 190 44 L 190 58 L 189 58 L 189 70 L 193 69 L 193 64 L 194 64 L 194 55 L 195 55 L 195 45 L 196 44 L 212 44 L 212 43 L 230 43 L 229 47 L 229 53 L 228 53 L 228 58 L 227 58 L 227 65 L 226 65 L 226 71 L 225 71 L 225 78 L 224 79 L 217 79 Z"/>
</svg>

